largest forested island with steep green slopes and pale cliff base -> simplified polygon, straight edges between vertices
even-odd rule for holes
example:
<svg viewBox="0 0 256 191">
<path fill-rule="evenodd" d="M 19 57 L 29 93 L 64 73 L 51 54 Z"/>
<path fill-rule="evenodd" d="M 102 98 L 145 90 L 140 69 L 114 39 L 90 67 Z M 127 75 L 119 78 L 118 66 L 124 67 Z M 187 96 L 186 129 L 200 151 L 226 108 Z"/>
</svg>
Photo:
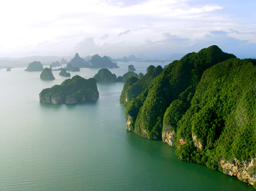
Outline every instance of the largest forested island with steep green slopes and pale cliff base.
<svg viewBox="0 0 256 191">
<path fill-rule="evenodd" d="M 126 80 L 126 129 L 256 189 L 256 59 L 211 46 Z"/>
</svg>

